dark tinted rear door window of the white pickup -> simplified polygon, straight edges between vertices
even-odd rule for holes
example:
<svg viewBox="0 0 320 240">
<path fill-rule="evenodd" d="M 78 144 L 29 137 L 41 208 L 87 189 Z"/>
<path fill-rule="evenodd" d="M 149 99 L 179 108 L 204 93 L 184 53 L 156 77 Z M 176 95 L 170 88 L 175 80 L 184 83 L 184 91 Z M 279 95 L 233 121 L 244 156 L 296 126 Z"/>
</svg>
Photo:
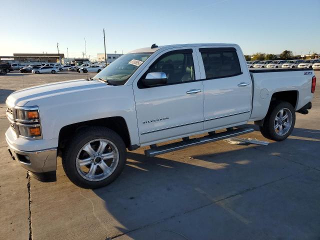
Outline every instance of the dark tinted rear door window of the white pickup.
<svg viewBox="0 0 320 240">
<path fill-rule="evenodd" d="M 199 51 L 206 79 L 241 74 L 235 48 L 199 48 Z"/>
</svg>

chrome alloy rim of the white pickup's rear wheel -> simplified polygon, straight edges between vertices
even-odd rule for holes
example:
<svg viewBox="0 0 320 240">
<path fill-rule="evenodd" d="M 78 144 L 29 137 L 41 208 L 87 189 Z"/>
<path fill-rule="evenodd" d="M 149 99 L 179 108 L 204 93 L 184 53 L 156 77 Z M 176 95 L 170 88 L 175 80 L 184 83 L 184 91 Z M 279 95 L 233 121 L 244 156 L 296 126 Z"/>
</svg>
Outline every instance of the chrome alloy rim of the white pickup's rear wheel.
<svg viewBox="0 0 320 240">
<path fill-rule="evenodd" d="M 274 130 L 279 136 L 285 135 L 292 125 L 292 113 L 288 108 L 280 109 L 274 119 Z"/>
</svg>

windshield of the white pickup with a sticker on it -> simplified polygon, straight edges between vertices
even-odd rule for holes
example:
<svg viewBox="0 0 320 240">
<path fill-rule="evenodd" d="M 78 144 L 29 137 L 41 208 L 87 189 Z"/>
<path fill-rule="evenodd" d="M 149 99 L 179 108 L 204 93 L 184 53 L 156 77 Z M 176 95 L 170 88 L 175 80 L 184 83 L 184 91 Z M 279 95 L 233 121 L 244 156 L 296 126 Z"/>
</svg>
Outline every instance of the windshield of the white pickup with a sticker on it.
<svg viewBox="0 0 320 240">
<path fill-rule="evenodd" d="M 100 78 L 115 85 L 123 85 L 151 54 L 149 52 L 124 54 L 96 74 L 93 79 Z"/>
</svg>

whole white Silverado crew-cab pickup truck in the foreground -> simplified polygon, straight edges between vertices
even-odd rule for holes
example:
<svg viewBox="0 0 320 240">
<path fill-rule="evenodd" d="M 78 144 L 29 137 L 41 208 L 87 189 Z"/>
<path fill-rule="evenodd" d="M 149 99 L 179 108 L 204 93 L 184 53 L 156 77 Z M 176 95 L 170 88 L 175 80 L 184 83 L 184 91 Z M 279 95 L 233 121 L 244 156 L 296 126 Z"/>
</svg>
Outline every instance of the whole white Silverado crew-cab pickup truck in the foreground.
<svg viewBox="0 0 320 240">
<path fill-rule="evenodd" d="M 5 138 L 13 159 L 35 177 L 54 179 L 61 155 L 73 183 L 96 188 L 120 174 L 126 148 L 149 145 L 145 154 L 154 156 L 251 132 L 240 127 L 248 121 L 283 140 L 295 112 L 311 108 L 314 89 L 312 69 L 249 71 L 236 44 L 153 44 L 93 78 L 11 93 Z"/>
</svg>

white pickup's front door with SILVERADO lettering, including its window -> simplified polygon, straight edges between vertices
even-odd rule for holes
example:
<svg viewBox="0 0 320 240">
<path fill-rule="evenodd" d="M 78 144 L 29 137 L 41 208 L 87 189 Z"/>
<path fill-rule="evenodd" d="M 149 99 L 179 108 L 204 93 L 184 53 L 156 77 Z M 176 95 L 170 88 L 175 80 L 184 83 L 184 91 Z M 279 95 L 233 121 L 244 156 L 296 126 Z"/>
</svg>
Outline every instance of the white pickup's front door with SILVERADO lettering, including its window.
<svg viewBox="0 0 320 240">
<path fill-rule="evenodd" d="M 165 72 L 167 83 L 146 87 L 148 72 Z M 203 85 L 192 48 L 165 50 L 133 83 L 140 144 L 203 130 Z"/>
</svg>

